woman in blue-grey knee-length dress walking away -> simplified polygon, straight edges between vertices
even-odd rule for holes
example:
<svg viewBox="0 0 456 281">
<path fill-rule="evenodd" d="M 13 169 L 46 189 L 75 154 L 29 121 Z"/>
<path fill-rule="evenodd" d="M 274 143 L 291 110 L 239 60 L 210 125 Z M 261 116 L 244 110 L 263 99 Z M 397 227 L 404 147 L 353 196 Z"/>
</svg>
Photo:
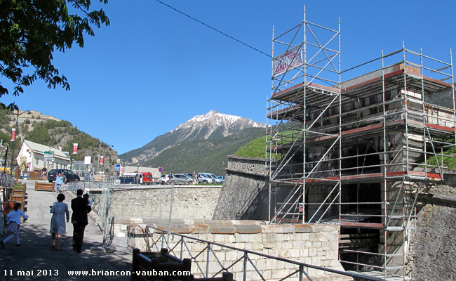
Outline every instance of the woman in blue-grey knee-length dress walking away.
<svg viewBox="0 0 456 281">
<path fill-rule="evenodd" d="M 67 233 L 67 225 L 65 223 L 65 215 L 67 215 L 67 222 L 69 222 L 69 211 L 68 205 L 63 201 L 65 200 L 65 195 L 60 193 L 57 195 L 57 202 L 52 204 L 51 207 L 51 233 L 52 237 L 52 249 L 55 251 L 60 251 L 60 242 L 62 241 L 62 234 Z M 55 237 L 57 236 L 57 243 L 55 243 Z"/>
</svg>

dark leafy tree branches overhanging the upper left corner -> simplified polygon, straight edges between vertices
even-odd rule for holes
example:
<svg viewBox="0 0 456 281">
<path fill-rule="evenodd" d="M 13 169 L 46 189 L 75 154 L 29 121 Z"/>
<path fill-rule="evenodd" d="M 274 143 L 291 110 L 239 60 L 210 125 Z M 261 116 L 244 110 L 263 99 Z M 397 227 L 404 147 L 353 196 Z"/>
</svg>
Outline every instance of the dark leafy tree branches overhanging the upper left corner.
<svg viewBox="0 0 456 281">
<path fill-rule="evenodd" d="M 49 89 L 69 90 L 67 78 L 52 63 L 53 52 L 65 52 L 74 42 L 82 48 L 83 35 L 94 35 L 91 25 L 109 25 L 109 19 L 102 9 L 90 11 L 90 0 L 0 0 L 0 77 L 15 84 L 13 96 L 36 79 Z M 8 93 L 0 84 L 0 97 Z M 14 103 L 0 107 L 18 109 Z"/>
</svg>

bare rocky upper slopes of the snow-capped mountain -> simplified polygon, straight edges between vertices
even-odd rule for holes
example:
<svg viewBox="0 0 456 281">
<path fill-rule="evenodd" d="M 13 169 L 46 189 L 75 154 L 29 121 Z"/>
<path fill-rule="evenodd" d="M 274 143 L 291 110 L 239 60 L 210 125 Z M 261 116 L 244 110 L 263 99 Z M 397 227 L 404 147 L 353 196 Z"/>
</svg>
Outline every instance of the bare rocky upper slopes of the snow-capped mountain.
<svg viewBox="0 0 456 281">
<path fill-rule="evenodd" d="M 254 122 L 251 119 L 224 115 L 211 110 L 206 115 L 195 116 L 169 133 L 156 137 L 142 148 L 126 152 L 120 157 L 127 164 L 137 161 L 142 163 L 156 157 L 163 150 L 174 148 L 182 143 L 201 139 L 216 140 L 230 136 L 243 129 L 265 127 L 266 124 Z"/>
</svg>

